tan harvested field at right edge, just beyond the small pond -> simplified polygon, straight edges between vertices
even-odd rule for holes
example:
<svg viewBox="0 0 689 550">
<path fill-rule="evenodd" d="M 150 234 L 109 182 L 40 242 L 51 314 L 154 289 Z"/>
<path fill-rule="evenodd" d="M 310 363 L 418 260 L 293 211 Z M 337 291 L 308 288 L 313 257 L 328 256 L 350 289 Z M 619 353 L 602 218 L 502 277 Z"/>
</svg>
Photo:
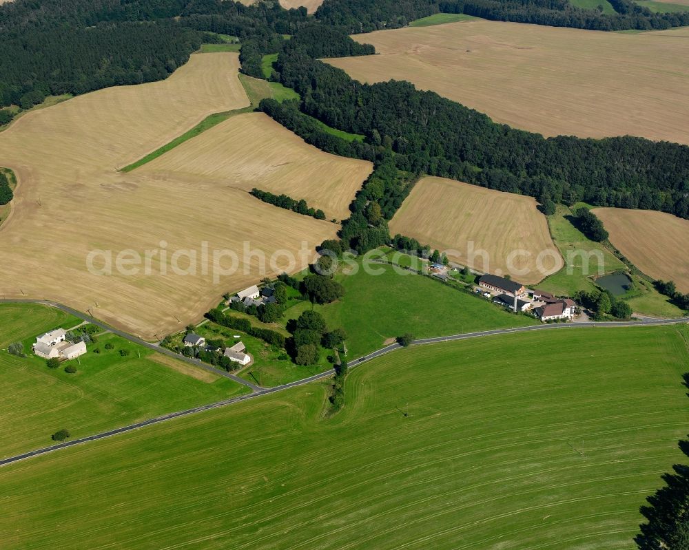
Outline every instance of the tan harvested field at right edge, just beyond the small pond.
<svg viewBox="0 0 689 550">
<path fill-rule="evenodd" d="M 593 210 L 610 242 L 641 271 L 689 293 L 689 220 L 655 210 Z"/>
</svg>

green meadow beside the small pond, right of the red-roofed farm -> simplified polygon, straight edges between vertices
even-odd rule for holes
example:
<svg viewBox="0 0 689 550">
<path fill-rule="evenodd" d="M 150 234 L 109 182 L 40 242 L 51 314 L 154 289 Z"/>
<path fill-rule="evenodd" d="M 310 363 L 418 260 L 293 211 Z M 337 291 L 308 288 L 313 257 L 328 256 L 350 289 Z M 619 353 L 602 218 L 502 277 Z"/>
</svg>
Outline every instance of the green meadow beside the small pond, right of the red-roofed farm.
<svg viewBox="0 0 689 550">
<path fill-rule="evenodd" d="M 577 290 L 593 290 L 595 285 L 589 278 L 590 275 L 613 273 L 626 268 L 603 245 L 588 240 L 584 233 L 573 226 L 568 220 L 571 215 L 570 209 L 558 204 L 555 214 L 548 216 L 553 242 L 564 257 L 565 266 L 537 284 L 542 290 L 564 296 L 572 296 Z M 588 257 L 591 259 L 590 262 L 586 261 Z M 599 257 L 602 258 L 602 262 L 599 261 Z M 588 268 L 585 269 L 587 264 Z"/>
</svg>

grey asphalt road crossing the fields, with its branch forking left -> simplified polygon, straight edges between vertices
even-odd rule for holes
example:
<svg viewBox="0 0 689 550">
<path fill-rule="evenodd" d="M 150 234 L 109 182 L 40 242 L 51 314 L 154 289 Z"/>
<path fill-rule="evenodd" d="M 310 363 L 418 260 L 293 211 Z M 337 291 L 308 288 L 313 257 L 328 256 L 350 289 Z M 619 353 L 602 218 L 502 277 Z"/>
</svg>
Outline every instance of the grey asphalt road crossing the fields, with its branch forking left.
<svg viewBox="0 0 689 550">
<path fill-rule="evenodd" d="M 32 456 L 39 456 L 41 454 L 46 454 L 48 452 L 56 451 L 59 449 L 64 449 L 65 447 L 72 447 L 73 445 L 79 445 L 80 443 L 87 443 L 88 441 L 96 441 L 98 439 L 103 439 L 106 437 L 111 437 L 117 434 L 123 434 L 125 432 L 131 432 L 132 430 L 138 430 L 141 427 L 145 427 L 148 425 L 152 424 L 157 424 L 160 422 L 165 422 L 168 420 L 176 419 L 180 416 L 188 416 L 189 414 L 195 414 L 197 412 L 203 412 L 205 410 L 211 410 L 211 409 L 217 409 L 220 407 L 225 407 L 225 405 L 231 405 L 232 403 L 238 403 L 240 401 L 246 401 L 247 399 L 254 399 L 258 396 L 266 395 L 266 394 L 272 394 L 276 392 L 281 392 L 283 390 L 287 390 L 289 388 L 295 388 L 296 386 L 299 385 L 304 385 L 307 383 L 311 383 L 320 379 L 327 378 L 329 376 L 332 376 L 335 373 L 334 369 L 329 369 L 326 370 L 325 372 L 320 372 L 319 374 L 314 374 L 311 377 L 307 377 L 301 380 L 297 380 L 294 382 L 290 382 L 287 384 L 282 384 L 275 386 L 274 388 L 261 388 L 260 386 L 251 384 L 247 382 L 246 380 L 240 379 L 239 377 L 236 377 L 232 374 L 229 374 L 228 372 L 224 372 L 222 370 L 218 370 L 215 368 L 212 368 L 211 366 L 206 365 L 205 363 L 200 363 L 200 361 L 194 361 L 194 359 L 189 359 L 189 357 L 183 357 L 182 355 L 178 355 L 175 352 L 172 352 L 170 350 L 167 350 L 165 348 L 161 348 L 160 346 L 156 346 L 153 343 L 147 342 L 145 340 L 142 340 L 141 338 L 132 336 L 130 334 L 127 334 L 127 332 L 123 332 L 122 330 L 118 330 L 116 328 L 112 328 L 111 326 L 108 326 L 107 324 L 103 323 L 102 321 L 98 321 L 96 319 L 93 319 L 92 317 L 89 317 L 88 315 L 84 315 L 83 313 L 80 313 L 79 311 L 76 311 L 72 308 L 69 308 L 68 306 L 63 306 L 62 304 L 57 304 L 56 302 L 50 302 L 48 300 L 31 300 L 31 299 L 0 299 L 0 304 L 1 303 L 7 303 L 7 304 L 43 304 L 45 306 L 51 306 L 54 308 L 59 308 L 63 310 L 65 313 L 70 313 L 71 315 L 74 315 L 76 317 L 79 317 L 80 319 L 83 319 L 85 321 L 88 321 L 90 323 L 93 323 L 95 325 L 100 326 L 101 328 L 104 328 L 106 330 L 110 330 L 111 332 L 114 332 L 114 334 L 121 336 L 127 340 L 130 340 L 134 343 L 138 343 L 141 346 L 145 346 L 147 348 L 150 348 L 152 350 L 156 350 L 157 352 L 165 353 L 165 355 L 169 355 L 171 357 L 175 357 L 176 359 L 180 359 L 182 361 L 186 361 L 187 363 L 190 363 L 192 365 L 195 365 L 197 367 L 205 368 L 206 370 L 210 370 L 216 374 L 220 374 L 222 376 L 225 376 L 227 378 L 231 378 L 234 381 L 237 381 L 240 384 L 243 384 L 249 388 L 251 388 L 251 394 L 246 394 L 246 395 L 240 395 L 236 397 L 232 397 L 230 399 L 225 399 L 224 401 L 218 401 L 217 403 L 210 403 L 209 405 L 201 405 L 199 407 L 194 407 L 192 409 L 187 409 L 187 410 L 182 410 L 178 412 L 171 412 L 169 414 L 163 414 L 163 416 L 156 416 L 154 419 L 149 419 L 145 420 L 142 422 L 138 422 L 136 424 L 131 424 L 128 426 L 123 426 L 116 428 L 114 430 L 110 430 L 108 432 L 103 432 L 101 434 L 95 434 L 92 436 L 88 437 L 83 437 L 79 439 L 73 439 L 72 441 L 65 441 L 65 443 L 59 443 L 58 445 L 52 445 L 50 447 L 43 447 L 42 449 L 36 449 L 35 451 L 30 451 L 26 452 L 23 454 L 18 454 L 17 456 L 10 456 L 8 458 L 3 458 L 0 460 L 0 466 L 8 465 L 14 462 L 22 461 L 25 460 L 26 458 L 31 458 Z M 449 336 L 439 336 L 439 337 L 433 337 L 433 338 L 422 338 L 413 341 L 413 346 L 423 346 L 425 344 L 431 344 L 431 343 L 441 343 L 441 342 L 449 342 L 449 341 L 455 341 L 455 340 L 464 340 L 464 339 L 469 339 L 469 338 L 480 338 L 480 337 L 486 337 L 486 336 L 494 336 L 494 335 L 503 335 L 503 334 L 510 334 L 511 332 L 533 332 L 535 330 L 566 330 L 568 328 L 582 328 L 582 327 L 590 327 L 590 328 L 595 328 L 595 327 L 628 327 L 628 326 L 657 326 L 657 325 L 674 325 L 674 324 L 681 324 L 681 323 L 689 323 L 689 317 L 682 317 L 681 319 L 643 319 L 641 321 L 586 321 L 583 323 L 563 323 L 563 324 L 544 324 L 544 325 L 531 325 L 531 326 L 522 326 L 522 327 L 517 327 L 517 328 L 497 328 L 495 330 L 481 330 L 480 332 L 465 332 L 464 334 L 458 334 L 458 335 L 449 335 Z M 376 350 L 374 352 L 369 353 L 369 355 L 364 355 L 364 357 L 359 357 L 358 359 L 353 359 L 352 361 L 349 361 L 349 367 L 353 368 L 356 366 L 361 365 L 362 363 L 365 363 L 367 361 L 371 361 L 371 359 L 376 359 L 376 357 L 380 357 L 382 355 L 385 355 L 389 352 L 392 352 L 394 350 L 398 350 L 402 348 L 399 343 L 391 343 L 389 346 L 385 346 L 384 348 L 380 348 L 379 350 Z"/>
</svg>

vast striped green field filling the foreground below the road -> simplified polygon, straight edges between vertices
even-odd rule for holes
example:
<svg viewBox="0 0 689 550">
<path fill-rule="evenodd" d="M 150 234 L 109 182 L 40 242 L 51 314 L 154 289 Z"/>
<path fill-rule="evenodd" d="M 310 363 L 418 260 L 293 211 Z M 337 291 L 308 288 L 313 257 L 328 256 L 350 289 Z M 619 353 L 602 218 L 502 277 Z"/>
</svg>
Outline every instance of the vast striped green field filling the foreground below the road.
<svg viewBox="0 0 689 550">
<path fill-rule="evenodd" d="M 630 550 L 688 361 L 670 327 L 394 352 L 327 419 L 316 383 L 0 468 L 3 548 Z"/>
</svg>

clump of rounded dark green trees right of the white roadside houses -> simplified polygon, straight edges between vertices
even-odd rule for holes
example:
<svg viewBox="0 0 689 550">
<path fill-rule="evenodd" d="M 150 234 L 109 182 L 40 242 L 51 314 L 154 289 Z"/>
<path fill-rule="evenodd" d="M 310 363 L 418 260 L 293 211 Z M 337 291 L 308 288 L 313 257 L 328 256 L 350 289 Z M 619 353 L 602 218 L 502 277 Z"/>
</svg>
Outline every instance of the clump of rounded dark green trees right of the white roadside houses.
<svg viewBox="0 0 689 550">
<path fill-rule="evenodd" d="M 321 347 L 336 348 L 347 339 L 343 328 L 328 330 L 325 319 L 317 311 L 305 311 L 287 328 L 292 334 L 287 348 L 298 365 L 317 363 Z"/>
</svg>

